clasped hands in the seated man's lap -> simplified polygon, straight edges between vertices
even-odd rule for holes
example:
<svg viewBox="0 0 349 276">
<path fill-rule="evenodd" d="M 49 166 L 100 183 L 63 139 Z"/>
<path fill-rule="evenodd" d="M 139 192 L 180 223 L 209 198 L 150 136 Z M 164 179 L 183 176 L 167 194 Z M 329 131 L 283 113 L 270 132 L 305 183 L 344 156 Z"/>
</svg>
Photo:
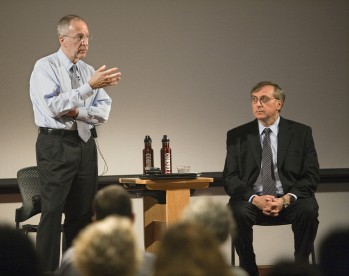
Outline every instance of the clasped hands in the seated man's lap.
<svg viewBox="0 0 349 276">
<path fill-rule="evenodd" d="M 255 196 L 252 204 L 262 210 L 263 214 L 270 217 L 277 217 L 283 208 L 283 201 L 272 195 Z"/>
</svg>

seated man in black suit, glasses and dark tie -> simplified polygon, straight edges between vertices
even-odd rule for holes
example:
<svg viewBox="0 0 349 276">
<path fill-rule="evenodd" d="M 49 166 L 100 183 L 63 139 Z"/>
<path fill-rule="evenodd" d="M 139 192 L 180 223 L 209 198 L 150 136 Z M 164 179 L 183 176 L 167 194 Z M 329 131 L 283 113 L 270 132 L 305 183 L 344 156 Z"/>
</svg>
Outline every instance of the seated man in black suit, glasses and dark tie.
<svg viewBox="0 0 349 276">
<path fill-rule="evenodd" d="M 309 262 L 319 224 L 314 196 L 319 163 L 312 131 L 280 117 L 284 101 L 277 84 L 258 83 L 251 91 L 256 119 L 227 134 L 224 188 L 237 222 L 240 266 L 250 275 L 258 275 L 253 225 L 291 223 L 295 260 Z M 275 243 L 283 246 L 282 240 Z"/>
</svg>

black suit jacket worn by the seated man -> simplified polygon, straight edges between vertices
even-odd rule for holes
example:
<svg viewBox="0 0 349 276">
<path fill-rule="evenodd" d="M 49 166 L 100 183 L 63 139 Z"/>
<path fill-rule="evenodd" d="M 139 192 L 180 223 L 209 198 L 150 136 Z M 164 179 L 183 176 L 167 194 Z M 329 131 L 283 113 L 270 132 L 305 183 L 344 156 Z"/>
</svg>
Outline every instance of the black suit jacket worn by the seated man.
<svg viewBox="0 0 349 276">
<path fill-rule="evenodd" d="M 280 118 L 277 167 L 284 193 L 298 199 L 314 195 L 319 162 L 311 128 Z M 257 119 L 227 133 L 224 189 L 232 199 L 249 200 L 261 167 L 262 147 Z"/>
</svg>

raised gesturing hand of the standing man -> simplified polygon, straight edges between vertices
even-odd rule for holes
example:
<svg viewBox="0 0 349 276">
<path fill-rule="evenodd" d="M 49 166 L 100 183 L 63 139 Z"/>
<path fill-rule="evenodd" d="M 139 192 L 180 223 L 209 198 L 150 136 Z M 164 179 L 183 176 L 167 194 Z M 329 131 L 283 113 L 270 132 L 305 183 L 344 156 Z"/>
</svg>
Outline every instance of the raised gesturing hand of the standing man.
<svg viewBox="0 0 349 276">
<path fill-rule="evenodd" d="M 92 75 L 91 79 L 88 81 L 92 89 L 116 85 L 121 79 L 121 73 L 118 72 L 118 68 L 114 67 L 108 70 L 106 68 L 107 67 L 103 65 Z"/>
</svg>

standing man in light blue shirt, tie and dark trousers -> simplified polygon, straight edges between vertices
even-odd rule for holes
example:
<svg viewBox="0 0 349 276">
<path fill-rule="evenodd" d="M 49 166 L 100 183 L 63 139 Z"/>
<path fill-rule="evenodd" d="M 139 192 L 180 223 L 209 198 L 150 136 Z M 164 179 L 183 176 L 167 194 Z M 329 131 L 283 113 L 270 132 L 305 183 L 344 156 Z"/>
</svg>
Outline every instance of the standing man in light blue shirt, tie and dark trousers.
<svg viewBox="0 0 349 276">
<path fill-rule="evenodd" d="M 121 73 L 106 66 L 94 70 L 82 61 L 90 34 L 77 15 L 58 23 L 58 52 L 38 60 L 30 79 L 35 123 L 42 214 L 36 239 L 44 270 L 59 264 L 62 213 L 65 248 L 91 221 L 97 190 L 95 126 L 107 121 L 111 98 L 103 89 Z"/>
</svg>

